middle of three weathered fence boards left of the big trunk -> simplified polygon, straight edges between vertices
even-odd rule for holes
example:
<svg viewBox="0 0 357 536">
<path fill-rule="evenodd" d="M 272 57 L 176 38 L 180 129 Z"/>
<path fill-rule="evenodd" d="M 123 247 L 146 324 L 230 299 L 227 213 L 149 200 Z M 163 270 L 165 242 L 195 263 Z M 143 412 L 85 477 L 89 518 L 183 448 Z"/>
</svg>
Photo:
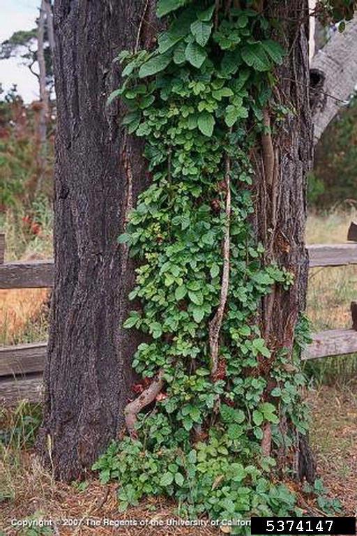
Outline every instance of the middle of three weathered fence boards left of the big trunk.
<svg viewBox="0 0 357 536">
<path fill-rule="evenodd" d="M 43 372 L 47 343 L 0 348 L 0 376 Z"/>
</svg>

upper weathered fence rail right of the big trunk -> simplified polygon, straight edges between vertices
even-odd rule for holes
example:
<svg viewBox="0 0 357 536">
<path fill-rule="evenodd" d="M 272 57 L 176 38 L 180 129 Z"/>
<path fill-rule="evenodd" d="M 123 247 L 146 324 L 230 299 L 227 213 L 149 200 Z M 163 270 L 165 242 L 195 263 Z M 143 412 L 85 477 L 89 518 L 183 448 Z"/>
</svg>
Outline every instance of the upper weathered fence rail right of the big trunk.
<svg viewBox="0 0 357 536">
<path fill-rule="evenodd" d="M 357 244 L 313 244 L 307 250 L 310 268 L 357 265 Z"/>
</svg>

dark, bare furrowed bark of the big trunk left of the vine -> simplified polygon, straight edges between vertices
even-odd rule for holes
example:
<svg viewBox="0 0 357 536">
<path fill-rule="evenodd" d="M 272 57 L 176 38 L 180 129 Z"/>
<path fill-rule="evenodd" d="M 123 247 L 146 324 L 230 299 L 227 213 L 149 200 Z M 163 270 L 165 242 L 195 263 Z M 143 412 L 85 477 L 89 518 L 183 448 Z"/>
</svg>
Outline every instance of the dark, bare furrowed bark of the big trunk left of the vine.
<svg viewBox="0 0 357 536">
<path fill-rule="evenodd" d="M 57 0 L 54 64 L 54 292 L 38 451 L 54 477 L 77 479 L 123 423 L 137 346 L 121 325 L 134 268 L 123 232 L 146 184 L 138 142 L 126 139 L 118 105 L 123 49 L 151 45 L 154 2 Z M 143 16 L 145 12 L 145 17 Z"/>
</svg>

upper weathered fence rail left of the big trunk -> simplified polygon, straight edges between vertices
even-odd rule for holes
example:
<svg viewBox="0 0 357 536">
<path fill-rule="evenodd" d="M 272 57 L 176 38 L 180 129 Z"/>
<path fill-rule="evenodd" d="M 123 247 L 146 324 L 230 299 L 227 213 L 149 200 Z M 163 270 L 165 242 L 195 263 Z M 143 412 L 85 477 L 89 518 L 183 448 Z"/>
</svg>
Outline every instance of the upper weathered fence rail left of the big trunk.
<svg viewBox="0 0 357 536">
<path fill-rule="evenodd" d="M 53 273 L 53 260 L 6 262 L 0 265 L 0 289 L 52 287 Z"/>
</svg>

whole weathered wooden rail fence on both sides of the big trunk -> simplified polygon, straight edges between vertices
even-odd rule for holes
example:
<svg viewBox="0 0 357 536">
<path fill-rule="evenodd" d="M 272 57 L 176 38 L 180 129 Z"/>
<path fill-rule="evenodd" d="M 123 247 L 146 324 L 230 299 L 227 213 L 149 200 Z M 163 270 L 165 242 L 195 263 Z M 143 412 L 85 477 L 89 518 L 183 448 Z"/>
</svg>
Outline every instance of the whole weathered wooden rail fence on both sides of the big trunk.
<svg viewBox="0 0 357 536">
<path fill-rule="evenodd" d="M 357 242 L 357 223 L 351 223 L 348 239 Z M 307 246 L 310 268 L 357 265 L 356 244 L 317 244 Z M 0 289 L 50 288 L 53 261 L 4 262 L 5 239 L 0 234 Z M 331 329 L 312 336 L 303 360 L 357 352 L 357 304 L 351 304 L 352 328 Z M 46 342 L 0 348 L 0 401 L 7 404 L 26 398 L 40 399 Z"/>
</svg>

